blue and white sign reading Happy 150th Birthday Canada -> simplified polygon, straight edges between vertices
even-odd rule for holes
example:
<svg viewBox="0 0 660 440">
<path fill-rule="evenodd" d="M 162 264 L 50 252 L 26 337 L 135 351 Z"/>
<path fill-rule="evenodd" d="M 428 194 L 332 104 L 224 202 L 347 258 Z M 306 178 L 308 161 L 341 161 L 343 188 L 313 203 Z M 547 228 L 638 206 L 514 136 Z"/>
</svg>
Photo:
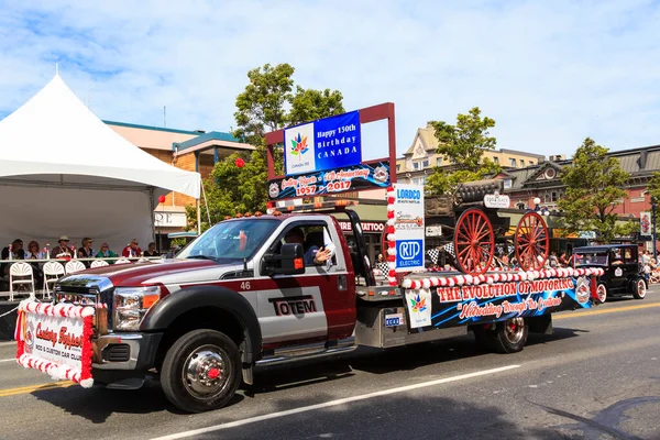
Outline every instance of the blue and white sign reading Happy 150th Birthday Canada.
<svg viewBox="0 0 660 440">
<path fill-rule="evenodd" d="M 361 163 L 359 111 L 284 129 L 284 174 L 286 176 Z"/>
</svg>

